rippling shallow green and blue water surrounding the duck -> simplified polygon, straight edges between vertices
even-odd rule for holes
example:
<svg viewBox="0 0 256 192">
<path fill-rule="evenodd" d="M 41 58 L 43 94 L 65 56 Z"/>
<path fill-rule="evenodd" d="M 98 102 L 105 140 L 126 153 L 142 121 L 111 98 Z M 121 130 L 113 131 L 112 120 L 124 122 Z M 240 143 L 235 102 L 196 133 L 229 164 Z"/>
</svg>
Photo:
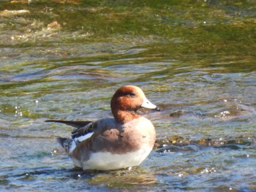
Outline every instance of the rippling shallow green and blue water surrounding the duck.
<svg viewBox="0 0 256 192">
<path fill-rule="evenodd" d="M 1 1 L 1 190 L 255 191 L 255 6 Z M 44 121 L 110 116 L 127 84 L 162 108 L 145 112 L 155 149 L 131 170 L 74 169 L 53 139 L 71 128 Z"/>
</svg>

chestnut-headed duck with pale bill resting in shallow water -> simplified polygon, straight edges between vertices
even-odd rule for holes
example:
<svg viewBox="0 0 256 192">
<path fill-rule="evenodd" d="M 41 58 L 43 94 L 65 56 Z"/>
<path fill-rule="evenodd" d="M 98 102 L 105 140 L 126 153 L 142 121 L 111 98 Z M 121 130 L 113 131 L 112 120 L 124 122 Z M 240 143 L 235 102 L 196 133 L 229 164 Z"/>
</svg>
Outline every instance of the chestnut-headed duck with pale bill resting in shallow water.
<svg viewBox="0 0 256 192">
<path fill-rule="evenodd" d="M 113 94 L 113 118 L 95 121 L 46 120 L 73 126 L 71 137 L 56 137 L 75 166 L 83 170 L 114 170 L 139 166 L 151 153 L 156 131 L 140 108 L 159 111 L 135 85 L 124 85 Z"/>
</svg>

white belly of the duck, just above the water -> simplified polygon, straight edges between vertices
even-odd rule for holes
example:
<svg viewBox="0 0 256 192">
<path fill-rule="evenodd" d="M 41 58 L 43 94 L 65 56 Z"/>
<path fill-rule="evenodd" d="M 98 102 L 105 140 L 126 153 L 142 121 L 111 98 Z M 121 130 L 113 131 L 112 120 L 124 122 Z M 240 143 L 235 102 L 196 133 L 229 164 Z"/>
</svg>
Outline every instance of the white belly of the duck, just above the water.
<svg viewBox="0 0 256 192">
<path fill-rule="evenodd" d="M 129 166 L 138 166 L 151 152 L 151 147 L 141 147 L 140 150 L 126 154 L 112 154 L 109 152 L 92 153 L 89 160 L 80 162 L 83 170 L 113 170 Z"/>
</svg>

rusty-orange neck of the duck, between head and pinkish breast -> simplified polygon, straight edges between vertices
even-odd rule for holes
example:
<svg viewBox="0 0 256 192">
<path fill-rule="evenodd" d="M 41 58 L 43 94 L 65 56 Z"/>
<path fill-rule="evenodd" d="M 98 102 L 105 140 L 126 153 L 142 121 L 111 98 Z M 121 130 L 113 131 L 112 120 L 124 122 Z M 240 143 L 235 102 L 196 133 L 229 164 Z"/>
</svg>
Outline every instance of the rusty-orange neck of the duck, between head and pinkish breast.
<svg viewBox="0 0 256 192">
<path fill-rule="evenodd" d="M 136 118 L 140 118 L 140 115 L 138 115 L 137 112 L 121 111 L 121 110 L 118 110 L 117 112 L 113 112 L 113 116 L 116 119 L 116 122 L 118 123 L 127 123 Z"/>
</svg>

